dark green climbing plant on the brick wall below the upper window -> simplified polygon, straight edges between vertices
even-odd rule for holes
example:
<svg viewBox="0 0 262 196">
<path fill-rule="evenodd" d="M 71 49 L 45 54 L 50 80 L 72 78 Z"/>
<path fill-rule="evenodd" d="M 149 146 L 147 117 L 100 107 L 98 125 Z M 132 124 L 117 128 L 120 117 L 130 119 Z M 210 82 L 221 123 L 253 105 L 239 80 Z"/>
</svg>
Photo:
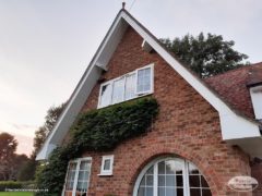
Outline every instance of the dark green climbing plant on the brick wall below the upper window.
<svg viewBox="0 0 262 196">
<path fill-rule="evenodd" d="M 80 114 L 70 131 L 71 142 L 56 148 L 39 170 L 38 188 L 60 194 L 69 160 L 80 157 L 83 150 L 112 150 L 122 140 L 145 133 L 157 113 L 157 101 L 142 98 Z"/>
</svg>

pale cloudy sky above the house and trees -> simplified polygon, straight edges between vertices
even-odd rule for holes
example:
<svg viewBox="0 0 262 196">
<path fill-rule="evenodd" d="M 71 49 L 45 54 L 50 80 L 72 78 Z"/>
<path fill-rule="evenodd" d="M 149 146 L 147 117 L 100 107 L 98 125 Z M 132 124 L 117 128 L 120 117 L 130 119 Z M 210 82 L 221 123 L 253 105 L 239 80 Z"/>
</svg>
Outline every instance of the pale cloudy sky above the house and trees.
<svg viewBox="0 0 262 196">
<path fill-rule="evenodd" d="M 235 40 L 262 61 L 261 0 L 126 0 L 158 38 L 200 32 Z M 0 0 L 0 132 L 29 155 L 51 106 L 64 102 L 97 50 L 121 0 Z"/>
</svg>

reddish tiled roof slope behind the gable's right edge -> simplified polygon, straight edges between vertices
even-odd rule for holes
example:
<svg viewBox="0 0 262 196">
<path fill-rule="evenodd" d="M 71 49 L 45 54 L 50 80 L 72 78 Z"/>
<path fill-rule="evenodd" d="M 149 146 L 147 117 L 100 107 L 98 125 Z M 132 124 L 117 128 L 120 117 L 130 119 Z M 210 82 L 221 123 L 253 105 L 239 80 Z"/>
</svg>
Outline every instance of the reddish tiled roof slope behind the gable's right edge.
<svg viewBox="0 0 262 196">
<path fill-rule="evenodd" d="M 262 62 L 209 77 L 205 82 L 234 109 L 254 119 L 249 87 L 262 83 Z"/>
</svg>

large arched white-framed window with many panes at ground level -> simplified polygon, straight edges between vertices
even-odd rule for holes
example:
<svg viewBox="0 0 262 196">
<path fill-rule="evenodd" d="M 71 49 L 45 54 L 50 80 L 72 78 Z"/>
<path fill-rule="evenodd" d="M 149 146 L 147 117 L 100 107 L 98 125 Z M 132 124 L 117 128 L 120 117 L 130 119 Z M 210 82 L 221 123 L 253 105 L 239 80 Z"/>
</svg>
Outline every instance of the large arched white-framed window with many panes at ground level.
<svg viewBox="0 0 262 196">
<path fill-rule="evenodd" d="M 211 196 L 211 189 L 198 168 L 180 158 L 162 158 L 140 173 L 133 196 Z"/>
</svg>

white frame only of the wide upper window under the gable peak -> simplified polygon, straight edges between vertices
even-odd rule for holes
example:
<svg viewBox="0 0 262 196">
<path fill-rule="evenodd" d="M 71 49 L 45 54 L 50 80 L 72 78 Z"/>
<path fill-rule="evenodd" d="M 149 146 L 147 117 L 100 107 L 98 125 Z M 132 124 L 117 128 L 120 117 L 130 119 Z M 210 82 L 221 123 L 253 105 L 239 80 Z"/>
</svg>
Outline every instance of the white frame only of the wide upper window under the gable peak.
<svg viewBox="0 0 262 196">
<path fill-rule="evenodd" d="M 150 90 L 146 90 L 146 91 L 138 93 L 138 73 L 139 73 L 140 70 L 144 70 L 144 69 L 148 69 L 148 68 L 151 69 L 151 89 L 150 89 Z M 127 82 L 127 76 L 132 75 L 132 74 L 135 74 L 135 79 L 134 79 L 134 81 L 135 81 L 135 84 L 134 84 L 134 94 L 135 94 L 135 96 L 134 96 L 133 98 L 126 99 L 126 82 Z M 145 66 L 143 66 L 143 68 L 136 69 L 136 70 L 133 71 L 133 72 L 129 72 L 129 73 L 127 73 L 127 74 L 124 74 L 124 75 L 121 75 L 121 76 L 119 76 L 119 77 L 116 77 L 116 78 L 114 78 L 114 79 L 110 79 L 110 81 L 108 81 L 108 82 L 105 82 L 105 83 L 100 84 L 99 97 L 98 97 L 98 103 L 97 103 L 97 108 L 98 108 L 98 109 L 99 109 L 99 108 L 105 108 L 105 107 L 108 107 L 108 106 L 111 106 L 111 105 L 119 103 L 119 102 L 115 102 L 115 103 L 112 102 L 114 82 L 116 82 L 116 81 L 118 81 L 118 79 L 120 79 L 120 78 L 122 78 L 122 77 L 124 77 L 124 93 L 123 93 L 123 100 L 122 100 L 122 101 L 119 101 L 119 102 L 123 102 L 123 101 L 127 101 L 127 100 L 135 99 L 135 98 L 138 98 L 138 97 L 147 96 L 147 95 L 154 93 L 154 63 L 151 63 L 151 64 L 145 65 Z M 107 106 L 102 106 L 102 105 L 100 105 L 100 101 L 102 101 L 102 89 L 103 89 L 103 87 L 106 86 L 106 85 L 110 85 L 110 101 L 109 101 L 110 103 L 107 105 Z"/>
</svg>

